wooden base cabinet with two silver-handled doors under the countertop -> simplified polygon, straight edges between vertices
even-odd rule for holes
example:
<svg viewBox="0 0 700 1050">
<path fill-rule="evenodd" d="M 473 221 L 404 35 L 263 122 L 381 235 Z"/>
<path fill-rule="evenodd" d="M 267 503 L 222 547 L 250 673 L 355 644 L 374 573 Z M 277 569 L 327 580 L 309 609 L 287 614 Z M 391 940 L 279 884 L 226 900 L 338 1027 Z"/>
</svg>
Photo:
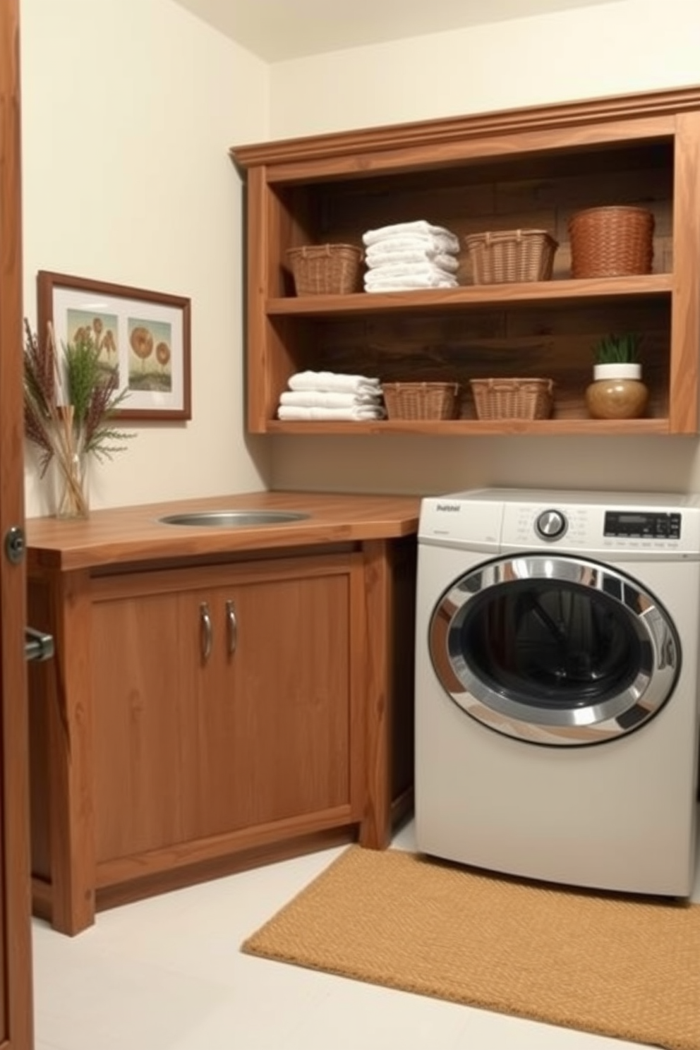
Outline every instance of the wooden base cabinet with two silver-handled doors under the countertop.
<svg viewBox="0 0 700 1050">
<path fill-rule="evenodd" d="M 29 558 L 56 638 L 29 673 L 37 914 L 76 933 L 178 885 L 387 844 L 411 801 L 415 536 L 143 562 L 120 540 L 107 564 L 66 541 L 96 564 Z"/>
</svg>

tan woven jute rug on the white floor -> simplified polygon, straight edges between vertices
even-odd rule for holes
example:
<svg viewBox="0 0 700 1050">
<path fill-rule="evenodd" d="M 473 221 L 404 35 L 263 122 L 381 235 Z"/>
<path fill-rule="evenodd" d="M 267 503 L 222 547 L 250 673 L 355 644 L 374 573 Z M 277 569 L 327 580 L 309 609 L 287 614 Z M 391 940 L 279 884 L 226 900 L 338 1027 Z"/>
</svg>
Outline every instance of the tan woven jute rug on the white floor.
<svg viewBox="0 0 700 1050">
<path fill-rule="evenodd" d="M 700 1050 L 700 905 L 349 846 L 241 946 L 630 1042 Z"/>
</svg>

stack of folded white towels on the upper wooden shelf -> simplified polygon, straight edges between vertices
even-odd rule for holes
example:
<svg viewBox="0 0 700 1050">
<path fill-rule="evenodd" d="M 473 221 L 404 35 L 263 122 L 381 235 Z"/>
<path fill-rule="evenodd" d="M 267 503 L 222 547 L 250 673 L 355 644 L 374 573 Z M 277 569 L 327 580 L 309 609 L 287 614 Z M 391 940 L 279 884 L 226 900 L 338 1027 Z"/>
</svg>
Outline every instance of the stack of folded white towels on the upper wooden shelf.
<svg viewBox="0 0 700 1050">
<path fill-rule="evenodd" d="M 458 287 L 460 242 L 451 230 L 419 218 L 367 230 L 362 240 L 365 292 Z"/>
</svg>

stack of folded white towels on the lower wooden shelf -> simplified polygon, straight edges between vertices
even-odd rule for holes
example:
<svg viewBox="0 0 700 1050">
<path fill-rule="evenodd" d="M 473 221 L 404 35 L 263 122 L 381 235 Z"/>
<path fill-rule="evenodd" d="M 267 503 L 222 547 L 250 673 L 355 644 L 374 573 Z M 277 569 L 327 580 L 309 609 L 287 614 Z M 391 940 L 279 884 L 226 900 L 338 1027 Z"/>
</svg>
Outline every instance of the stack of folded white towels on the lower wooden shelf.
<svg viewBox="0 0 700 1050">
<path fill-rule="evenodd" d="M 338 372 L 297 372 L 279 399 L 279 419 L 385 419 L 379 379 Z"/>
</svg>

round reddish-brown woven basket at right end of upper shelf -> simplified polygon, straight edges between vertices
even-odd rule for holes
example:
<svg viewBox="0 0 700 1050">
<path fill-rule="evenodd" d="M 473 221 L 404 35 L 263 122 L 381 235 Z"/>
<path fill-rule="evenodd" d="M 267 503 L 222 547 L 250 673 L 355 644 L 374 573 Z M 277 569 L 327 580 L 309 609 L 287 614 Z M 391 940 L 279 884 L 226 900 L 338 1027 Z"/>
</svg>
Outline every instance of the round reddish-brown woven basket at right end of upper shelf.
<svg viewBox="0 0 700 1050">
<path fill-rule="evenodd" d="M 569 219 L 572 277 L 651 273 L 654 215 L 645 208 L 587 208 Z"/>
</svg>

